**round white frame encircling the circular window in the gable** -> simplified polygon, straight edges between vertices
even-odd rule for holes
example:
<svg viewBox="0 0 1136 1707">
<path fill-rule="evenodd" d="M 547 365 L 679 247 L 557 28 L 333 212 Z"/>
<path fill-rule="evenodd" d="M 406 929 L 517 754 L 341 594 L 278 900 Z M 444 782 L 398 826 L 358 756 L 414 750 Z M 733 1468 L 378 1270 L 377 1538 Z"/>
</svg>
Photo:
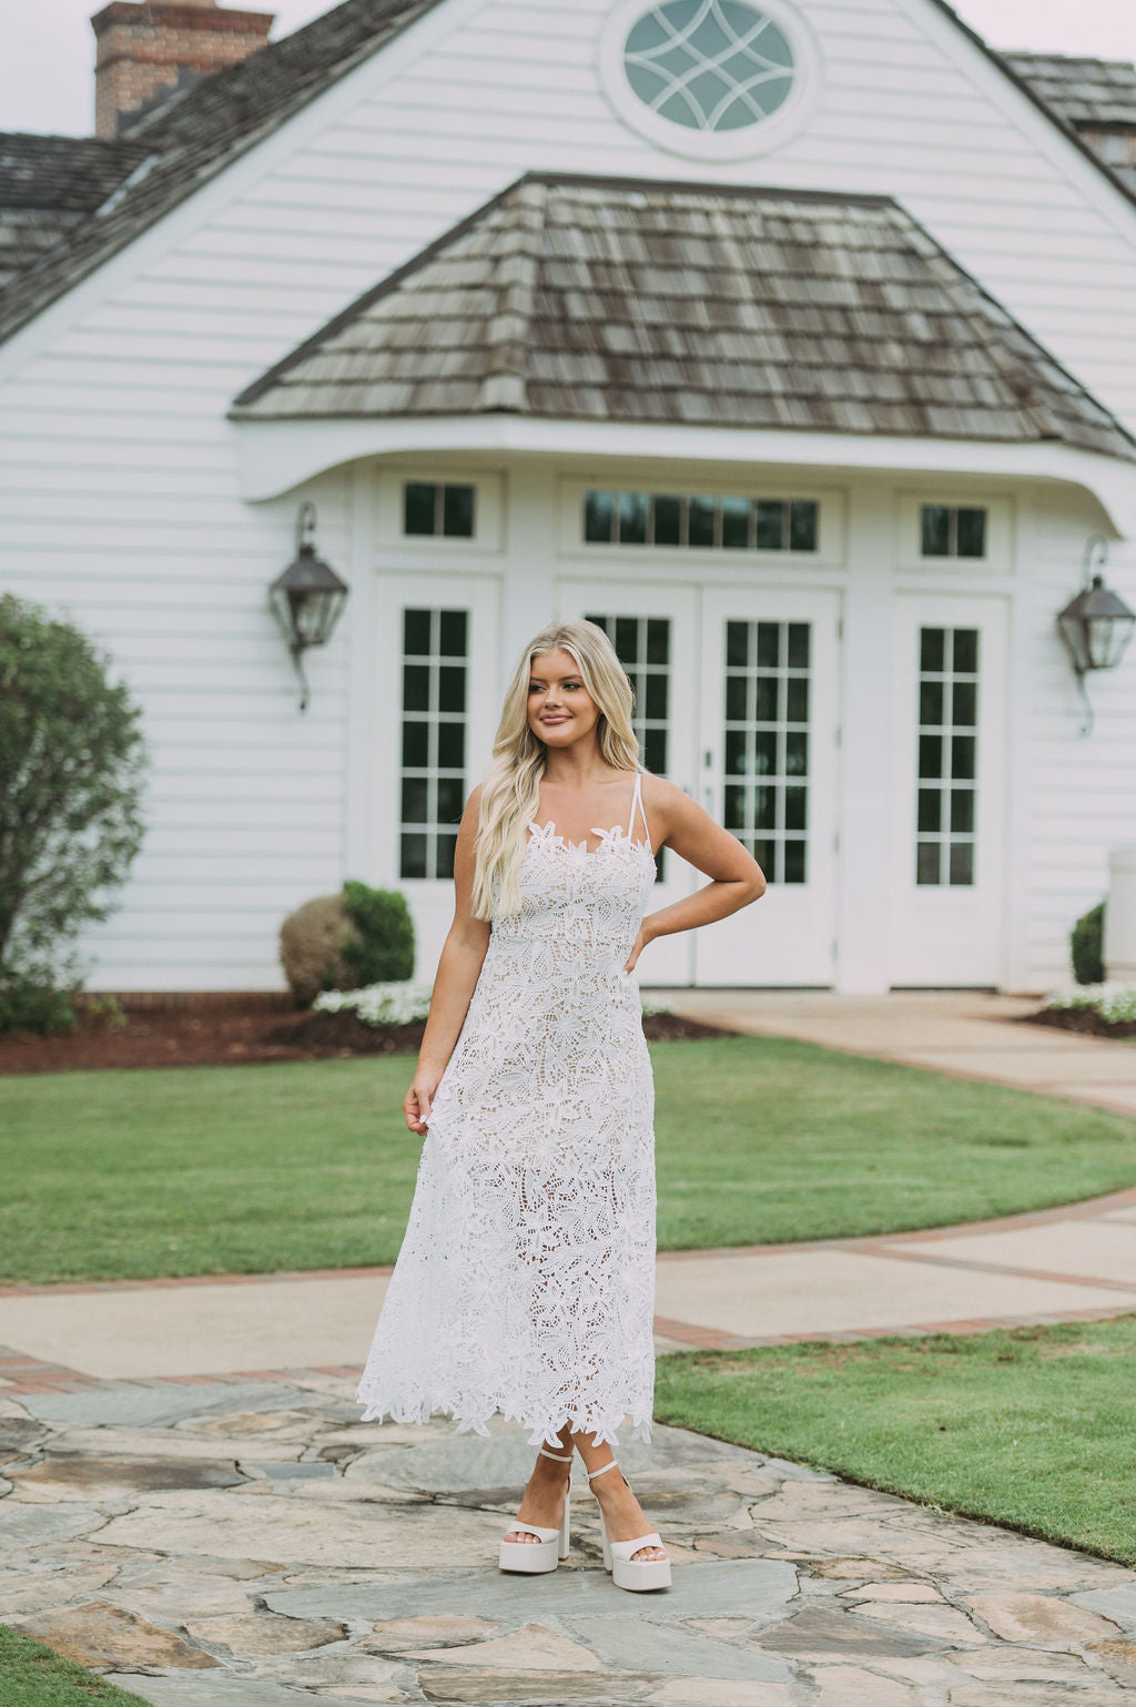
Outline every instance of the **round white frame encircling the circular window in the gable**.
<svg viewBox="0 0 1136 1707">
<path fill-rule="evenodd" d="M 658 0 L 656 0 L 658 3 Z M 624 50 L 635 24 L 647 17 L 651 0 L 624 0 L 603 26 L 600 36 L 600 79 L 608 101 L 625 125 L 670 154 L 699 160 L 740 160 L 779 147 L 799 130 L 815 111 L 820 94 L 820 50 L 808 22 L 791 0 L 740 0 L 753 14 L 767 17 L 786 38 L 793 53 L 793 85 L 784 102 L 767 118 L 735 130 L 694 130 L 661 118 L 627 80 Z"/>
</svg>

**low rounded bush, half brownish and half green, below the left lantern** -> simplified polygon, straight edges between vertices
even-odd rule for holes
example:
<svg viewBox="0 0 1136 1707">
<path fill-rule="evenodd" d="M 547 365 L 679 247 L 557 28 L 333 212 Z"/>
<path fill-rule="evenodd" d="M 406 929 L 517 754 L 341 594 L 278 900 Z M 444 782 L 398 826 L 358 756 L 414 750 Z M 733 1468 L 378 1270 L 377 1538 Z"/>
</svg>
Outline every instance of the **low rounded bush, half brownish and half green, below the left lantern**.
<svg viewBox="0 0 1136 1707">
<path fill-rule="evenodd" d="M 301 1007 L 321 990 L 400 983 L 413 975 L 410 910 L 398 891 L 348 879 L 284 920 L 280 964 Z"/>
</svg>

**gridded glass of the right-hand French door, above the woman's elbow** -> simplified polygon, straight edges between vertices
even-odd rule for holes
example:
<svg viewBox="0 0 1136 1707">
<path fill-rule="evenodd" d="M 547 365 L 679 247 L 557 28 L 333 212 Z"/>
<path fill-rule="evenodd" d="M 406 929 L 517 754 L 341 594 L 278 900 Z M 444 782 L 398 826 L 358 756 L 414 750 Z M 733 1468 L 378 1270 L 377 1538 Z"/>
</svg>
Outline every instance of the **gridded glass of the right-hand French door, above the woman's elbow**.
<svg viewBox="0 0 1136 1707">
<path fill-rule="evenodd" d="M 810 625 L 726 623 L 723 821 L 770 883 L 808 881 Z"/>
</svg>

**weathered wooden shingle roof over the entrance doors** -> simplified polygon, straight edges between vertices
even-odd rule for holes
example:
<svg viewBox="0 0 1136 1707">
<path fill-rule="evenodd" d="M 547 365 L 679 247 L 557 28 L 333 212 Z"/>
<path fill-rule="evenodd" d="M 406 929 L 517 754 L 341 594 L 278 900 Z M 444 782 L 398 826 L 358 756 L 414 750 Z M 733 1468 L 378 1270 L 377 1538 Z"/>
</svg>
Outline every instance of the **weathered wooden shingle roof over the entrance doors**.
<svg viewBox="0 0 1136 1707">
<path fill-rule="evenodd" d="M 885 196 L 528 176 L 236 420 L 483 415 L 934 439 L 1129 434 Z"/>
</svg>

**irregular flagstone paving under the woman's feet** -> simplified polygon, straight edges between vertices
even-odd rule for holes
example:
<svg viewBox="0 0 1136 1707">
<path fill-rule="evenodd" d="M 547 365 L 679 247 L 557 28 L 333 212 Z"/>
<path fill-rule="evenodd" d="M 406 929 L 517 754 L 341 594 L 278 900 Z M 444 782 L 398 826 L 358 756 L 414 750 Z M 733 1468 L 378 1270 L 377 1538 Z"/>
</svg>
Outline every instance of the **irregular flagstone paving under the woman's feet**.
<svg viewBox="0 0 1136 1707">
<path fill-rule="evenodd" d="M 154 1707 L 1107 1707 L 1136 1574 L 678 1429 L 622 1451 L 675 1560 L 501 1576 L 531 1448 L 362 1424 L 354 1378 L 0 1398 L 0 1620 Z"/>
</svg>

